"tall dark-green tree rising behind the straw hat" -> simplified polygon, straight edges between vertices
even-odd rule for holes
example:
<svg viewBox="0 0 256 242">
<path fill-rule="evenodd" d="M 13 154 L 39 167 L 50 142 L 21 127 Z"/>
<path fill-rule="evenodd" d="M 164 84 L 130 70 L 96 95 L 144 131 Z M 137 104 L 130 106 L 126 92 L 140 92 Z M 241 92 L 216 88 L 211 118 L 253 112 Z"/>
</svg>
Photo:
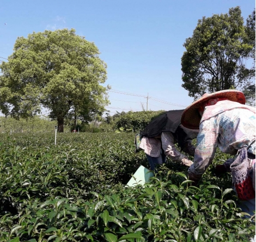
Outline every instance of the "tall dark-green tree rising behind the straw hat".
<svg viewBox="0 0 256 242">
<path fill-rule="evenodd" d="M 182 87 L 190 97 L 253 87 L 254 68 L 246 65 L 252 59 L 253 41 L 248 41 L 247 32 L 240 7 L 198 21 L 181 58 Z"/>
</svg>

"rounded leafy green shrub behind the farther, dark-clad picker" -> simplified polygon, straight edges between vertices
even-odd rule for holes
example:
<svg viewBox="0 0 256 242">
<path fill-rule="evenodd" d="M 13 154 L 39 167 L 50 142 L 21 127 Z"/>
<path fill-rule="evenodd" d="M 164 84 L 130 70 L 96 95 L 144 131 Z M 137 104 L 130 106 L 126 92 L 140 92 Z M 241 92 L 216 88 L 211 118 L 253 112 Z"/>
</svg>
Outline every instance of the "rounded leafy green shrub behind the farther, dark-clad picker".
<svg viewBox="0 0 256 242">
<path fill-rule="evenodd" d="M 119 129 L 123 127 L 125 130 L 133 129 L 138 132 L 145 128 L 145 126 L 157 116 L 165 113 L 166 111 L 141 111 L 141 112 L 127 112 L 115 123 L 115 128 Z"/>
</svg>

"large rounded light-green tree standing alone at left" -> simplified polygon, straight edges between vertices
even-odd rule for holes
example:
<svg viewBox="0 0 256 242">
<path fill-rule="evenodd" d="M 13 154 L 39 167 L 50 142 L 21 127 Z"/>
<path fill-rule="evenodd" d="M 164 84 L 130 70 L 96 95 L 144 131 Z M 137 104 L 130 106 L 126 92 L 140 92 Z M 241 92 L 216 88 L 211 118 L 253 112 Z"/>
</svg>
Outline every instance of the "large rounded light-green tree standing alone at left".
<svg viewBox="0 0 256 242">
<path fill-rule="evenodd" d="M 106 63 L 93 42 L 75 29 L 18 37 L 8 62 L 0 65 L 0 109 L 13 117 L 32 117 L 50 110 L 63 132 L 64 118 L 89 119 L 108 104 L 103 87 Z"/>
</svg>

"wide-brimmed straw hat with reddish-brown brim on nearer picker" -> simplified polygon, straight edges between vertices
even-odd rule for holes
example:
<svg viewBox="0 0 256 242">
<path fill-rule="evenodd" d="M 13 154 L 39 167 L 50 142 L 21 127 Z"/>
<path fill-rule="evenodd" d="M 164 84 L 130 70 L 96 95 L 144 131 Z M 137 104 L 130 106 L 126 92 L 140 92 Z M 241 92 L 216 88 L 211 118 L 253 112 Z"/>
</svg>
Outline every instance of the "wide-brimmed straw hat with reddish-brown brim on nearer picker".
<svg viewBox="0 0 256 242">
<path fill-rule="evenodd" d="M 194 101 L 181 114 L 181 124 L 188 129 L 199 129 L 201 116 L 199 114 L 199 107 L 204 102 L 211 98 L 227 98 L 230 101 L 236 101 L 240 104 L 245 104 L 245 95 L 237 90 L 223 90 L 214 93 L 205 93 L 202 98 Z"/>
</svg>

